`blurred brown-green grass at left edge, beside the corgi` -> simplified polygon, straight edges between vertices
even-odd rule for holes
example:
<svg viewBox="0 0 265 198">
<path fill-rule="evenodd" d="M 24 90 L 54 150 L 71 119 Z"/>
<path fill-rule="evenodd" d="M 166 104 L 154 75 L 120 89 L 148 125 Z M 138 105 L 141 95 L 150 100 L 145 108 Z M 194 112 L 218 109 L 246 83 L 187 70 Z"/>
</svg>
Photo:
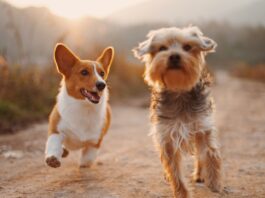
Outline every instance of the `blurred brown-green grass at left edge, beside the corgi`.
<svg viewBox="0 0 265 198">
<path fill-rule="evenodd" d="M 53 68 L 12 66 L 0 72 L 0 134 L 47 118 L 60 79 Z"/>
</svg>

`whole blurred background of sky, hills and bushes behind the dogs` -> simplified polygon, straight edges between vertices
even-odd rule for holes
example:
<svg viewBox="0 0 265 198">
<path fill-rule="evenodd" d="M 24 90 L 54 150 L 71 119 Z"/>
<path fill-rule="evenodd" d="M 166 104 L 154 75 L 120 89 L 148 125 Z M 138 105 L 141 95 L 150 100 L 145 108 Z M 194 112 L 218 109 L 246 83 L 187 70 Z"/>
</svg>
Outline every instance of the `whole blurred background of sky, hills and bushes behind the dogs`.
<svg viewBox="0 0 265 198">
<path fill-rule="evenodd" d="M 213 38 L 213 71 L 265 82 L 264 10 L 264 0 L 0 0 L 0 133 L 47 119 L 61 78 L 57 42 L 83 59 L 115 47 L 112 103 L 148 94 L 131 49 L 149 30 L 168 26 L 194 24 Z"/>
</svg>

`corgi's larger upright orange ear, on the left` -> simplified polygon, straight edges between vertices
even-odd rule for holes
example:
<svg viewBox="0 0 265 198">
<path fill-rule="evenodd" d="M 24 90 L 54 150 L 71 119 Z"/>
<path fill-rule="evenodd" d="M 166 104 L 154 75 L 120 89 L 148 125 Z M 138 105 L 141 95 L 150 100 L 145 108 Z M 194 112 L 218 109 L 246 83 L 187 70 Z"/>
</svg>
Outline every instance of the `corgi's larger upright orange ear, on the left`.
<svg viewBox="0 0 265 198">
<path fill-rule="evenodd" d="M 58 71 L 67 78 L 79 58 L 64 44 L 58 43 L 54 48 L 54 60 Z"/>
</svg>

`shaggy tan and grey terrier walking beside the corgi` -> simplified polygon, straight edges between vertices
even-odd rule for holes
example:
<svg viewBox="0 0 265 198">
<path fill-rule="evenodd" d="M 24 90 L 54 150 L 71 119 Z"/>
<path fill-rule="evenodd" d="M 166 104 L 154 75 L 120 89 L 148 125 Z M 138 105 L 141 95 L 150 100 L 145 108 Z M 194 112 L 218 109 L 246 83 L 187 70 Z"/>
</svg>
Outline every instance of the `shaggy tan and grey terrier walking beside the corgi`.
<svg viewBox="0 0 265 198">
<path fill-rule="evenodd" d="M 196 156 L 193 179 L 221 191 L 221 157 L 213 119 L 205 55 L 216 43 L 197 27 L 151 31 L 134 54 L 145 62 L 145 81 L 152 87 L 152 134 L 174 196 L 190 197 L 183 181 L 183 153 Z"/>
</svg>

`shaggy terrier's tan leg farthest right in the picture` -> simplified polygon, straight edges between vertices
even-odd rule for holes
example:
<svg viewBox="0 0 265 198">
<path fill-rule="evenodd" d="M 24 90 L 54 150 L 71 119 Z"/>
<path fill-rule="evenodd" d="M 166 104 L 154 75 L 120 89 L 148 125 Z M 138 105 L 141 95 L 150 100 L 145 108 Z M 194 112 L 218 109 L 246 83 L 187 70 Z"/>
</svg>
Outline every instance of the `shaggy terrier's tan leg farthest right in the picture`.
<svg viewBox="0 0 265 198">
<path fill-rule="evenodd" d="M 213 192 L 220 192 L 222 161 L 215 133 L 216 131 L 212 130 L 196 134 L 195 145 L 198 158 L 194 176 L 197 180 L 203 179 Z"/>
</svg>

